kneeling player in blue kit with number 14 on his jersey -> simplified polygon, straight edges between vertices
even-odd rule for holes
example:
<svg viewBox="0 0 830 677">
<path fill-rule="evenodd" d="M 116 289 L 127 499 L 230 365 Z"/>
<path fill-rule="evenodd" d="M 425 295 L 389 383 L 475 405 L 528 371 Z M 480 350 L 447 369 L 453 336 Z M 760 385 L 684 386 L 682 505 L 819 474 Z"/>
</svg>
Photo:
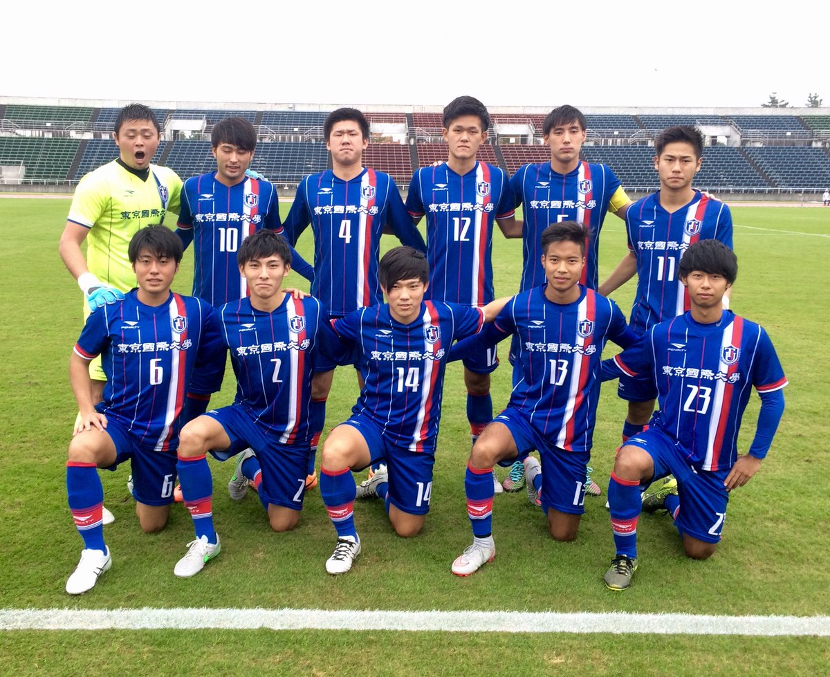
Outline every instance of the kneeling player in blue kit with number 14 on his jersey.
<svg viewBox="0 0 830 677">
<path fill-rule="evenodd" d="M 364 377 L 352 416 L 330 432 L 320 463 L 320 494 L 337 531 L 337 546 L 325 563 L 332 574 L 348 572 L 360 553 L 350 470 L 383 463 L 385 470 L 361 486 L 361 497 L 383 498 L 399 536 L 421 531 L 432 492 L 448 348 L 492 321 L 506 301 L 483 308 L 424 301 L 427 259 L 408 246 L 383 256 L 378 277 L 386 304 L 332 322 L 344 347 L 354 347 Z"/>
</svg>

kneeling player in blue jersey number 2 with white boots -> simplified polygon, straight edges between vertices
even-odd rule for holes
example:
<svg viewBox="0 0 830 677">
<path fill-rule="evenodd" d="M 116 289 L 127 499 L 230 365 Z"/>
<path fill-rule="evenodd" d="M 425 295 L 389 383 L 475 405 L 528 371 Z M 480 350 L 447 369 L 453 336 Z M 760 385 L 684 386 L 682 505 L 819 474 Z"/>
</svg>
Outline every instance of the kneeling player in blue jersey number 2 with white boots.
<svg viewBox="0 0 830 677">
<path fill-rule="evenodd" d="M 262 230 L 247 237 L 237 262 L 251 295 L 219 309 L 237 396 L 230 407 L 207 412 L 184 426 L 178 447 L 184 504 L 196 530 L 188 553 L 173 570 L 179 577 L 194 576 L 219 553 L 207 451 L 219 460 L 247 447 L 256 452 L 239 456 L 229 489 L 232 499 L 240 500 L 250 480 L 275 531 L 294 528 L 303 507 L 311 373 L 331 330 L 319 301 L 297 300 L 281 289 L 291 270 L 291 251 L 282 236 Z"/>
</svg>

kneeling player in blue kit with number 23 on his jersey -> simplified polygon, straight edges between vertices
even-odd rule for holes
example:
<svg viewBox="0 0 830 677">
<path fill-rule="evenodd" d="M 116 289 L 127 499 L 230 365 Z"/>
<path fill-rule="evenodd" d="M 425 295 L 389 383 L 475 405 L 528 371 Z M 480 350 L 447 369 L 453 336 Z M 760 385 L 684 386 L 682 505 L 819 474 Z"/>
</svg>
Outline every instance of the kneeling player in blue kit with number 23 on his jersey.
<svg viewBox="0 0 830 677">
<path fill-rule="evenodd" d="M 720 542 L 730 491 L 752 478 L 769 451 L 784 413 L 781 389 L 787 379 L 764 329 L 721 308 L 737 274 L 729 247 L 696 242 L 678 266 L 691 309 L 655 325 L 635 346 L 603 363 L 603 379 L 650 374 L 659 402 L 648 429 L 618 452 L 608 484 L 617 555 L 605 584 L 612 590 L 627 588 L 637 569 L 641 485 L 675 476 L 676 484 L 646 494 L 642 509 L 666 509 L 686 555 L 706 559 Z M 749 453 L 739 456 L 750 386 L 761 397 L 761 409 Z"/>
</svg>

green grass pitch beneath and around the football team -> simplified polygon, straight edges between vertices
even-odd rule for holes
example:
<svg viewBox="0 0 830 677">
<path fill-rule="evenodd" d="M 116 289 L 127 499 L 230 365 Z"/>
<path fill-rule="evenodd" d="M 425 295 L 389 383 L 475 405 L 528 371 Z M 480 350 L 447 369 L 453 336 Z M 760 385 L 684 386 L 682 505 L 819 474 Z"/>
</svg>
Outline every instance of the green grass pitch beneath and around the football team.
<svg viewBox="0 0 830 677">
<path fill-rule="evenodd" d="M 283 204 L 283 213 L 288 204 Z M 666 519 L 640 521 L 641 566 L 632 587 L 608 592 L 602 575 L 613 556 L 603 498 L 586 498 L 574 543 L 555 543 L 544 517 L 519 494 L 496 497 L 498 556 L 467 579 L 452 559 L 470 541 L 463 476 L 469 452 L 461 366 L 447 370 L 432 510 L 417 538 L 396 537 L 379 501 L 355 515 L 364 553 L 344 577 L 328 577 L 334 547 L 319 491 L 305 499 L 293 533 L 271 533 L 252 494 L 227 497 L 230 464 L 212 461 L 214 516 L 222 555 L 189 580 L 173 565 L 193 538 L 187 511 L 174 506 L 168 528 L 140 532 L 125 481 L 129 470 L 102 473 L 113 567 L 79 598 L 64 592 L 81 551 L 66 506 L 66 446 L 76 407 L 67 379 L 81 329 L 81 293 L 57 254 L 68 199 L 0 199 L 0 608 L 265 607 L 321 609 L 630 611 L 734 615 L 826 615 L 830 609 L 830 451 L 828 348 L 830 209 L 734 207 L 740 272 L 732 307 L 768 329 L 784 371 L 787 410 L 768 460 L 730 502 L 724 541 L 707 562 L 682 555 Z M 385 246 L 396 241 L 385 237 Z M 300 241 L 311 256 L 310 232 Z M 623 256 L 623 223 L 606 219 L 600 278 Z M 496 294 L 515 292 L 520 241 L 494 237 Z M 174 288 L 188 293 L 188 251 Z M 305 280 L 289 277 L 303 286 Z M 306 287 L 307 288 L 307 287 Z M 634 282 L 613 298 L 628 314 Z M 610 346 L 613 353 L 616 347 Z M 501 348 L 503 359 L 506 348 Z M 342 421 L 357 394 L 354 374 L 340 369 L 327 427 Z M 496 410 L 509 373 L 494 375 Z M 232 397 L 232 377 L 213 402 Z M 749 446 L 758 398 L 745 415 Z M 599 405 L 592 465 L 604 489 L 625 412 L 616 388 Z M 319 459 L 318 459 L 319 465 Z M 504 471 L 502 471 L 503 475 Z M 4 631 L 0 675 L 491 675 L 822 673 L 830 643 L 818 638 L 735 636 L 531 635 L 388 631 Z"/>
</svg>

